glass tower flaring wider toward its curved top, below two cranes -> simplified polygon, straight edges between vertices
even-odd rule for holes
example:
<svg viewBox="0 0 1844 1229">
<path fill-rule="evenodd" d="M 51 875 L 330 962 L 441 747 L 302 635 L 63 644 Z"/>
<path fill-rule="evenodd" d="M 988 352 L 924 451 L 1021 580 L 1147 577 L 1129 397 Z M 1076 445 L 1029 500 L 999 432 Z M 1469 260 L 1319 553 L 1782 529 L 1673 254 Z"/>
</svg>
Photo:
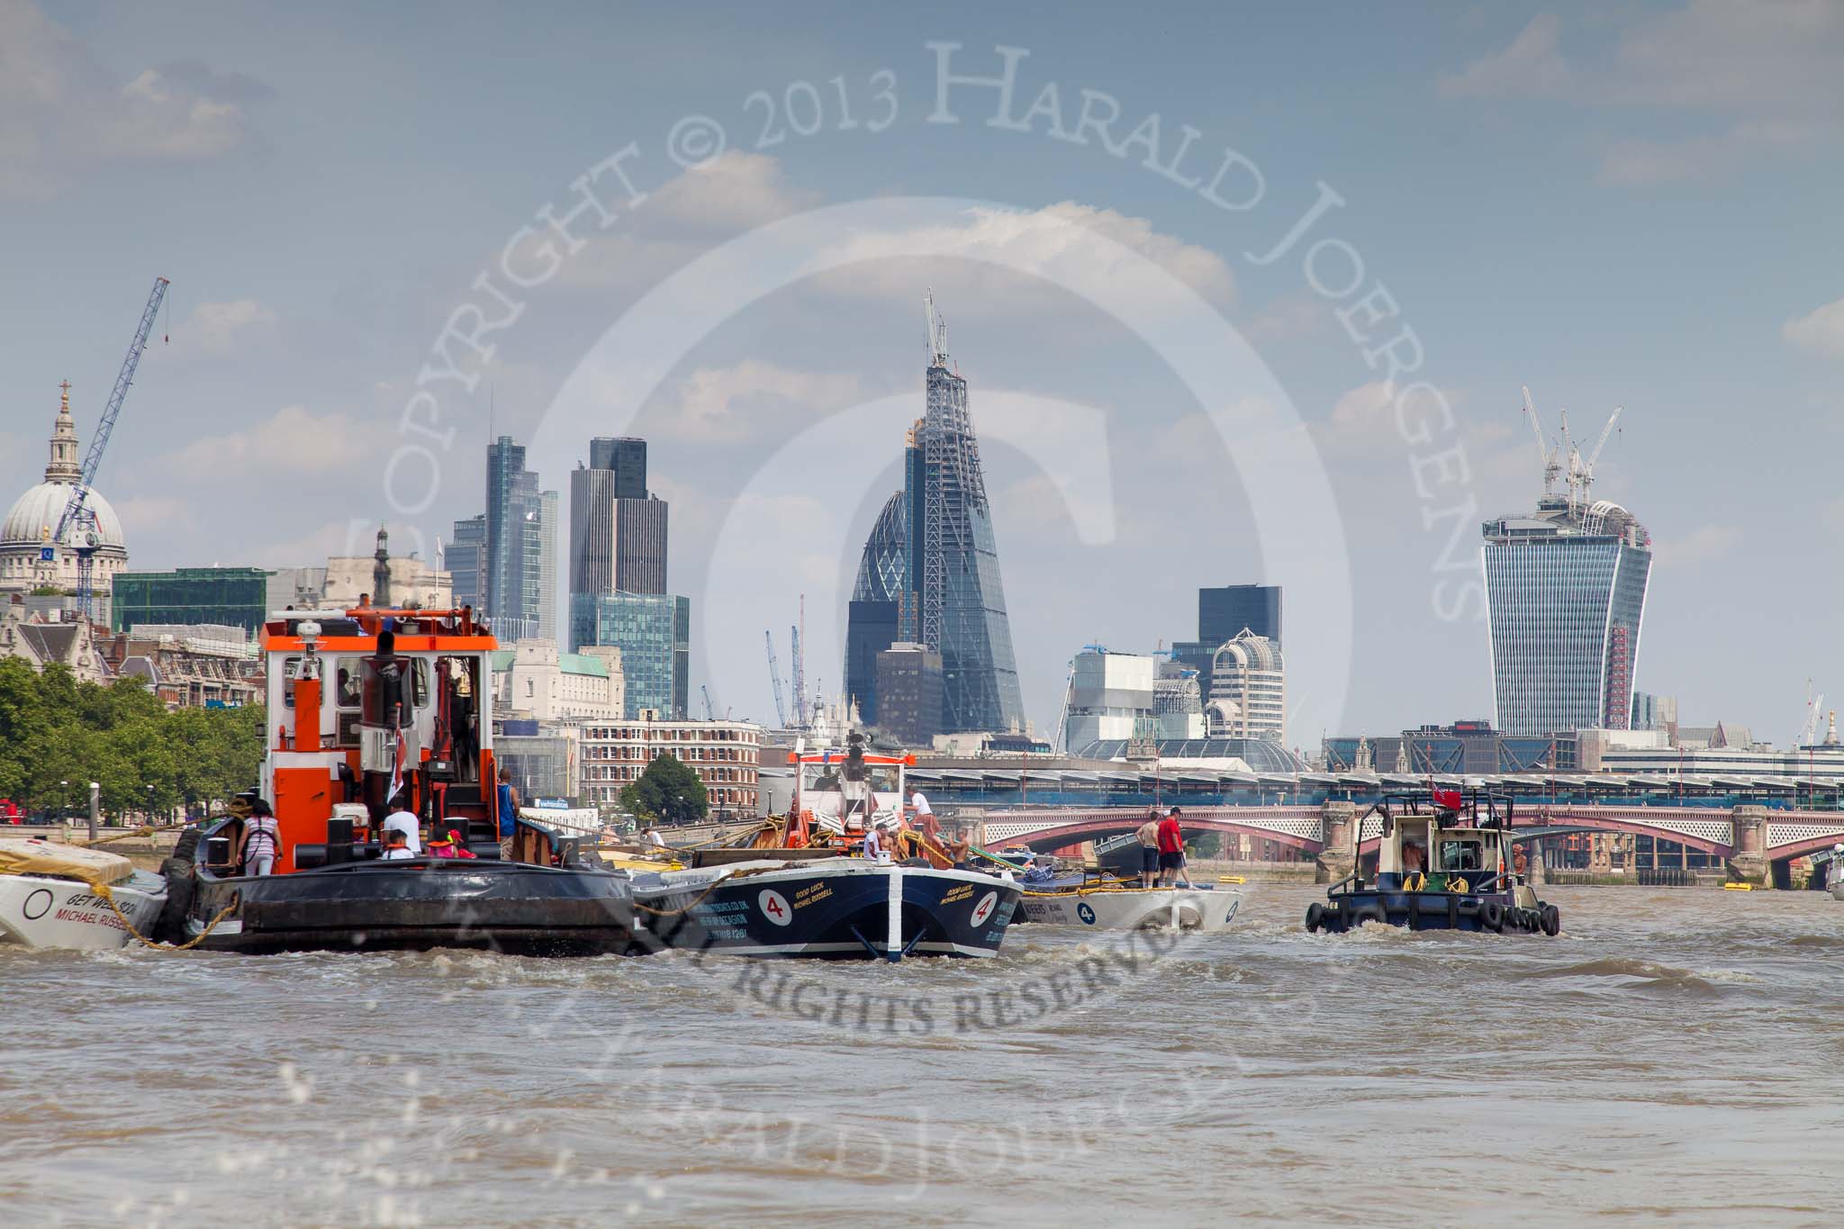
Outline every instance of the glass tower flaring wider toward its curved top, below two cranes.
<svg viewBox="0 0 1844 1229">
<path fill-rule="evenodd" d="M 1652 573 L 1645 527 L 1617 503 L 1545 496 L 1534 516 L 1483 531 L 1497 728 L 1625 730 Z"/>
</svg>

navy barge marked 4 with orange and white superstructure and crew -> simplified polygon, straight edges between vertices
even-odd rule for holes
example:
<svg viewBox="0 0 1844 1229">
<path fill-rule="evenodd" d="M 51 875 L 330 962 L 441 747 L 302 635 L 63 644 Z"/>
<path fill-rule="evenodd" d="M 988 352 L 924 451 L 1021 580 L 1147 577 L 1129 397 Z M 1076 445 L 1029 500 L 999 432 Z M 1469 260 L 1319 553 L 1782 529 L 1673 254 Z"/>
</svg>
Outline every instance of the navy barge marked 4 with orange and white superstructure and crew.
<svg viewBox="0 0 1844 1229">
<path fill-rule="evenodd" d="M 909 816 L 913 755 L 795 750 L 793 811 L 743 848 L 634 873 L 651 945 L 736 956 L 902 960 L 996 956 L 1018 908 L 1011 872 L 957 866 L 931 814 Z"/>
</svg>

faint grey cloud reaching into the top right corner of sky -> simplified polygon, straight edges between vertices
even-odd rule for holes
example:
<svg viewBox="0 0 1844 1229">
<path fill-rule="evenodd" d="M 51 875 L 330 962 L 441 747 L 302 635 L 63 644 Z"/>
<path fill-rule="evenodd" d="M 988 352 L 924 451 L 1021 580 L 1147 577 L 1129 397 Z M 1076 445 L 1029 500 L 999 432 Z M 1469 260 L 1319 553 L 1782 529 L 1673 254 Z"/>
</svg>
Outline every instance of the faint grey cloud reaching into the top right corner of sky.
<svg viewBox="0 0 1844 1229">
<path fill-rule="evenodd" d="M 1440 92 L 1709 116 L 1702 133 L 1608 142 L 1599 179 L 1612 184 L 1708 179 L 1844 131 L 1844 6 L 1831 0 L 1693 0 L 1632 20 L 1601 53 L 1562 42 L 1562 20 L 1540 13 L 1503 50 L 1442 74 Z"/>
</svg>

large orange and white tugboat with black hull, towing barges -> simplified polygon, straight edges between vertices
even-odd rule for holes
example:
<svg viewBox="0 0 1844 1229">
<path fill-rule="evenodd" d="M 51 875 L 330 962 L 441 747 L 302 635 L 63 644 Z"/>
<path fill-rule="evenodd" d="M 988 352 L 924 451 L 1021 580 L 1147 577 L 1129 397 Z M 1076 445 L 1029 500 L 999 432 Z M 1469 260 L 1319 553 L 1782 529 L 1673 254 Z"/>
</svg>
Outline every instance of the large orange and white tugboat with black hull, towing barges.
<svg viewBox="0 0 1844 1229">
<path fill-rule="evenodd" d="M 240 807 L 254 813 L 181 838 L 166 938 L 240 953 L 631 947 L 627 875 L 592 842 L 529 818 L 507 818 L 502 842 L 498 645 L 472 608 L 284 610 L 262 641 L 269 746 Z"/>
</svg>

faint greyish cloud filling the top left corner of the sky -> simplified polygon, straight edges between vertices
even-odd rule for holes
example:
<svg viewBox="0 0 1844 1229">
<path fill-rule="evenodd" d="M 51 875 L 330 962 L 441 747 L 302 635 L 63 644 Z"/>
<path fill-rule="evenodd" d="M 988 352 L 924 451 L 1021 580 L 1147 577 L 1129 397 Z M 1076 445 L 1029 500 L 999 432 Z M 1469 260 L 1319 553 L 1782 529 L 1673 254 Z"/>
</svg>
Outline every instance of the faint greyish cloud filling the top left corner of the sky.
<svg viewBox="0 0 1844 1229">
<path fill-rule="evenodd" d="M 254 144 L 267 88 L 194 61 L 125 85 L 31 0 L 0 0 L 0 195 L 46 197 L 116 158 L 195 162 Z"/>
</svg>

